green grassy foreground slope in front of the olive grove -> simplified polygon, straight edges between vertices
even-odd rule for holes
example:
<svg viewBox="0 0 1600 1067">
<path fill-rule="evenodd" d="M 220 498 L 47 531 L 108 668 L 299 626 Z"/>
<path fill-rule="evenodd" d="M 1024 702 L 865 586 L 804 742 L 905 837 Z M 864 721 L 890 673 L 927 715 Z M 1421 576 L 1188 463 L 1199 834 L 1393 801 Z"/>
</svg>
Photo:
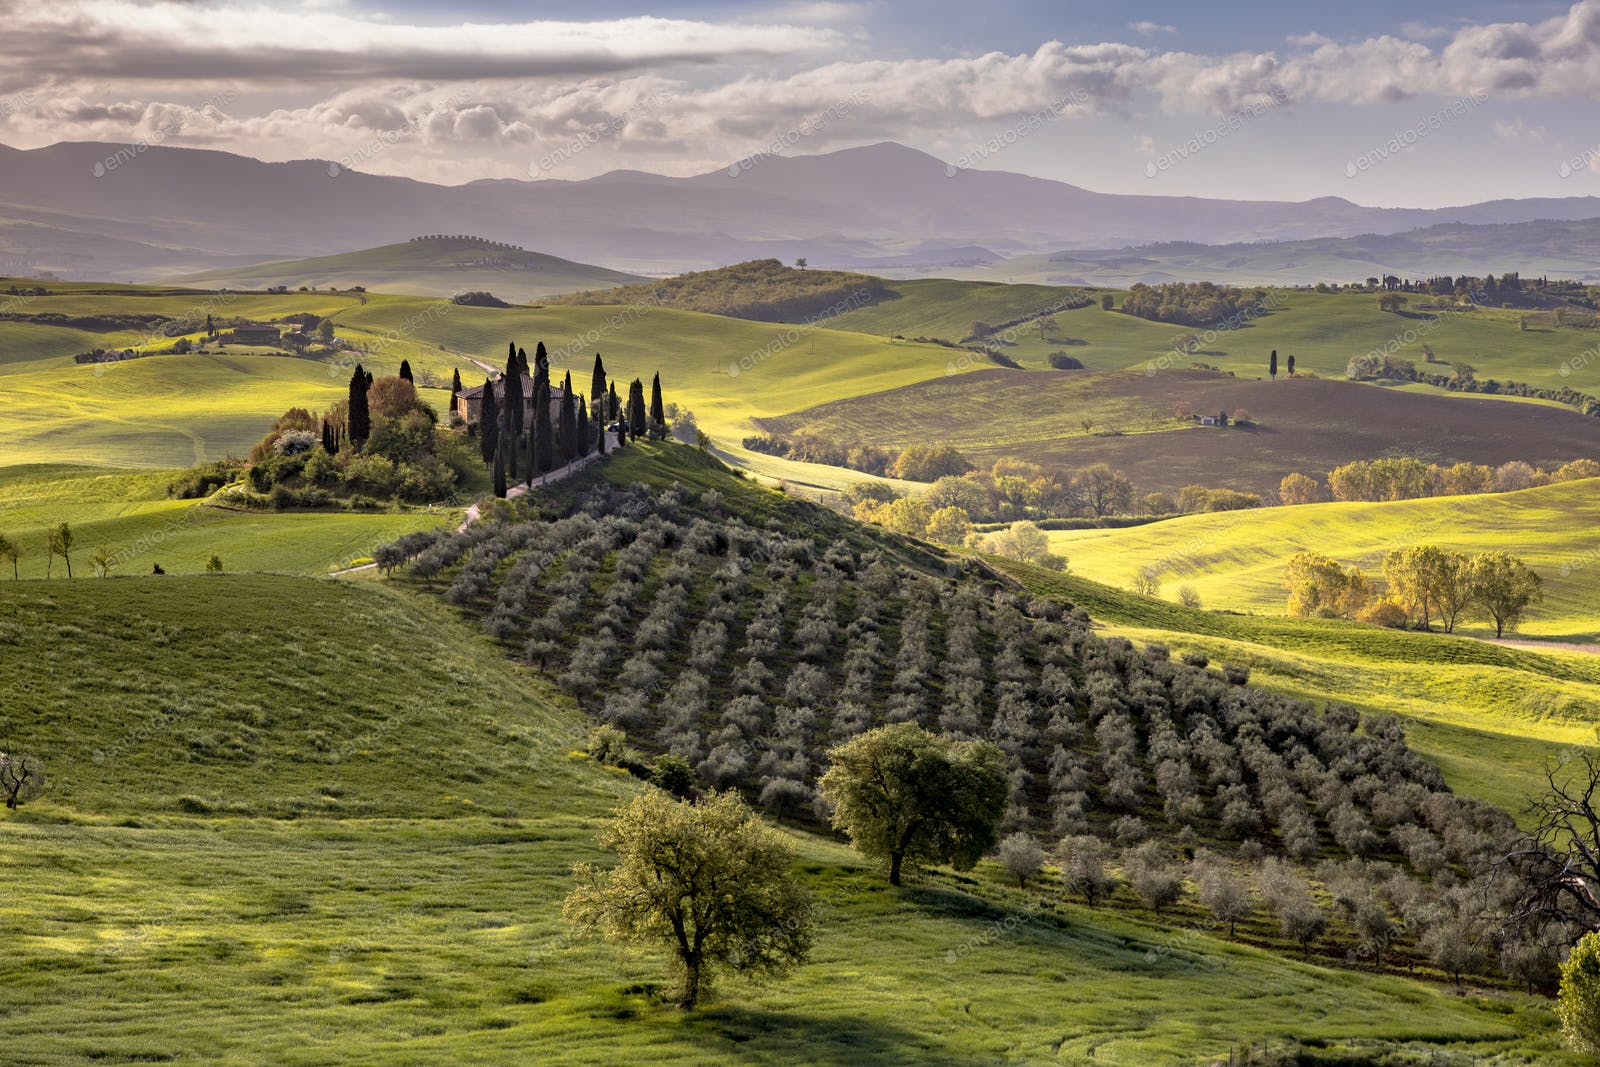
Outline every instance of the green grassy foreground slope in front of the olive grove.
<svg viewBox="0 0 1600 1067">
<path fill-rule="evenodd" d="M 1246 1041 L 1568 1062 L 1552 1013 L 1045 902 L 893 893 L 798 835 L 814 960 L 682 1016 L 571 942 L 568 867 L 637 785 L 443 608 L 382 584 L 0 587 L 13 1062 L 1141 1062 Z"/>
</svg>

